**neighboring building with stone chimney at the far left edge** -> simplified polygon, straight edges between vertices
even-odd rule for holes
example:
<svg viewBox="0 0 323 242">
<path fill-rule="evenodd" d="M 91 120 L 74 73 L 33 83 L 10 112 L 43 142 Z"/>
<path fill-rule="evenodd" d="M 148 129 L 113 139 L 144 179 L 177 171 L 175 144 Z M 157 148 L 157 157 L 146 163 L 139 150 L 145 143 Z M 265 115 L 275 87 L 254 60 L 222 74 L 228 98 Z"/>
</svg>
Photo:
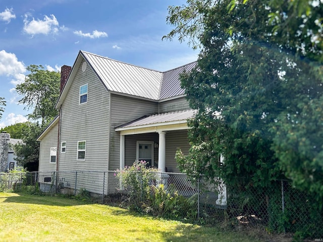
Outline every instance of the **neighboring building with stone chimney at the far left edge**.
<svg viewBox="0 0 323 242">
<path fill-rule="evenodd" d="M 21 139 L 11 139 L 10 134 L 0 134 L 0 172 L 12 170 L 17 166 L 13 146 L 22 143 Z"/>
</svg>

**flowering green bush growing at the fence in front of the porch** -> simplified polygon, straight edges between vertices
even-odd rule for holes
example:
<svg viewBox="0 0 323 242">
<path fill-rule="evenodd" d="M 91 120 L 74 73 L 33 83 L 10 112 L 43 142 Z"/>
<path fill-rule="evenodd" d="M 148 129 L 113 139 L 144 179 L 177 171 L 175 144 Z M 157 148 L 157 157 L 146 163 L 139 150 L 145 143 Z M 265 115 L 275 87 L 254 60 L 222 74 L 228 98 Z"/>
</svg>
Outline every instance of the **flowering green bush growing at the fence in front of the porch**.
<svg viewBox="0 0 323 242">
<path fill-rule="evenodd" d="M 118 173 L 129 193 L 130 209 L 171 219 L 194 221 L 197 218 L 197 198 L 185 198 L 177 191 L 169 193 L 160 183 L 157 169 L 148 168 L 146 161 L 136 161 Z M 174 191 L 175 189 L 171 189 Z"/>
</svg>

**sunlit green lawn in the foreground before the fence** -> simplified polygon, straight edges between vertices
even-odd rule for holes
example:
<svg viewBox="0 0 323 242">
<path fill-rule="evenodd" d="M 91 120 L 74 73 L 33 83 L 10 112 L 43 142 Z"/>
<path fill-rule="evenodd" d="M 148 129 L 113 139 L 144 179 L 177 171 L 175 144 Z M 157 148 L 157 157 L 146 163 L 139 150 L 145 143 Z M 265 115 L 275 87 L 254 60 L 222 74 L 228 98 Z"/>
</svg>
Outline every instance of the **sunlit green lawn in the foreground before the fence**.
<svg viewBox="0 0 323 242">
<path fill-rule="evenodd" d="M 254 241 L 75 199 L 0 193 L 0 241 Z"/>
</svg>

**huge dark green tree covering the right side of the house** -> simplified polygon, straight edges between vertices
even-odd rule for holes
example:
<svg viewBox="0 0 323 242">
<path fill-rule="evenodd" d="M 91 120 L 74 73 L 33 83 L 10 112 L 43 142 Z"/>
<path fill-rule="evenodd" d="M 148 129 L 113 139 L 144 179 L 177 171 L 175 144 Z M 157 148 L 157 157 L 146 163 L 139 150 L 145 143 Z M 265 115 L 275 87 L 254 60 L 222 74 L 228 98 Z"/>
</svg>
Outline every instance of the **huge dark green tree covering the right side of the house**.
<svg viewBox="0 0 323 242">
<path fill-rule="evenodd" d="M 201 3 L 210 2 L 187 8 Z M 202 26 L 202 50 L 181 78 L 199 110 L 189 123 L 191 152 L 178 153 L 183 165 L 189 160 L 198 172 L 245 188 L 288 177 L 323 198 L 322 8 L 303 0 L 223 0 L 199 10 L 192 23 Z M 183 18 L 184 10 L 168 19 L 176 26 L 196 19 Z M 193 36 L 183 28 L 171 36 Z"/>
</svg>

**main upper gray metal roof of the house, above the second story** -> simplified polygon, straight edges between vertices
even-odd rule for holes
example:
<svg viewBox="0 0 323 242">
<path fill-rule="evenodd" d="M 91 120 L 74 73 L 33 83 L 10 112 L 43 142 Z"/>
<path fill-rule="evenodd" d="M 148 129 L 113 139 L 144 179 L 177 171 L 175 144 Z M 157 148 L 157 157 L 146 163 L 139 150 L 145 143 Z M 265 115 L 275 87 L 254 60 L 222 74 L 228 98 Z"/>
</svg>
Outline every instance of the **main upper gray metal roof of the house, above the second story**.
<svg viewBox="0 0 323 242">
<path fill-rule="evenodd" d="M 196 62 L 166 72 L 158 72 L 107 57 L 80 51 L 107 90 L 161 100 L 184 94 L 179 76 Z"/>
</svg>

